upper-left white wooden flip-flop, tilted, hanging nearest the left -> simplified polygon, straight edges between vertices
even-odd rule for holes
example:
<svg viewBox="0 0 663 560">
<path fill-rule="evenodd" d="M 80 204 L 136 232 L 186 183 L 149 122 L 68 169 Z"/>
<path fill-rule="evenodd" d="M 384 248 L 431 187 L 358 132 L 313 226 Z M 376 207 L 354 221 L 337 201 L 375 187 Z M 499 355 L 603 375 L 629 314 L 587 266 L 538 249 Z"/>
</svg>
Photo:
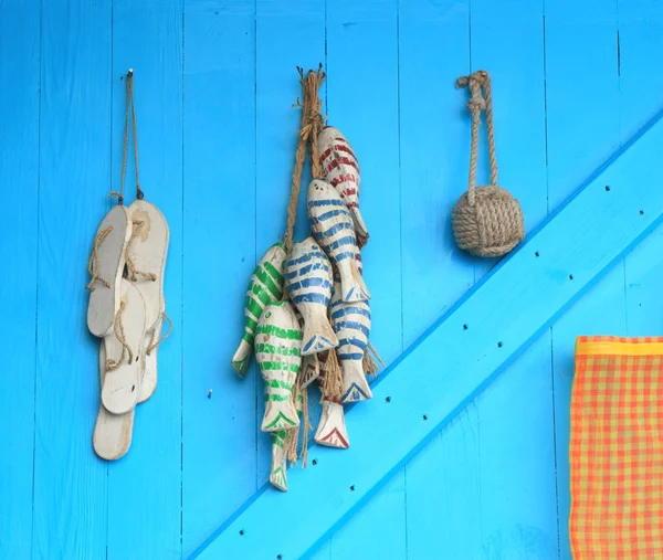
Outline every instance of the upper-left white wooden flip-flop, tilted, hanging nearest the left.
<svg viewBox="0 0 663 560">
<path fill-rule="evenodd" d="M 119 284 L 130 235 L 129 214 L 125 207 L 118 204 L 106 214 L 94 240 L 87 264 L 92 276 L 86 286 L 90 289 L 87 328 L 99 338 L 113 330 L 119 309 Z"/>
</svg>

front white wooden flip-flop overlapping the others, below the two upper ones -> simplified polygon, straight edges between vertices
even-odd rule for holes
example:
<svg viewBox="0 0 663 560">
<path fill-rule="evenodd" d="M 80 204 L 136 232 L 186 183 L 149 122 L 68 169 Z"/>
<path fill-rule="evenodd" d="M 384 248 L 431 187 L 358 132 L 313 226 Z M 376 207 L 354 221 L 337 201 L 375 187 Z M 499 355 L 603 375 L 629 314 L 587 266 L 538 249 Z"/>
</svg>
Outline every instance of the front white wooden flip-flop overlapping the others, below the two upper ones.
<svg viewBox="0 0 663 560">
<path fill-rule="evenodd" d="M 122 278 L 122 298 L 106 345 L 106 376 L 102 402 L 113 414 L 124 414 L 136 406 L 140 394 L 143 352 L 145 351 L 145 303 L 140 292 Z"/>
</svg>

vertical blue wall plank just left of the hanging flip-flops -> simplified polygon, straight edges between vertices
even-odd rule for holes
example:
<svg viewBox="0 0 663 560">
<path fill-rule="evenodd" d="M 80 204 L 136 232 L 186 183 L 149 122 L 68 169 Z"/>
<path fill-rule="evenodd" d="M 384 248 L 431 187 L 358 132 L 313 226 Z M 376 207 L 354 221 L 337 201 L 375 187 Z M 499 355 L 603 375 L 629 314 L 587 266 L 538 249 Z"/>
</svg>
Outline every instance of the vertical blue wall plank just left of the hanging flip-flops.
<svg viewBox="0 0 663 560">
<path fill-rule="evenodd" d="M 106 558 L 87 258 L 110 208 L 110 2 L 42 2 L 33 558 Z"/>
</svg>

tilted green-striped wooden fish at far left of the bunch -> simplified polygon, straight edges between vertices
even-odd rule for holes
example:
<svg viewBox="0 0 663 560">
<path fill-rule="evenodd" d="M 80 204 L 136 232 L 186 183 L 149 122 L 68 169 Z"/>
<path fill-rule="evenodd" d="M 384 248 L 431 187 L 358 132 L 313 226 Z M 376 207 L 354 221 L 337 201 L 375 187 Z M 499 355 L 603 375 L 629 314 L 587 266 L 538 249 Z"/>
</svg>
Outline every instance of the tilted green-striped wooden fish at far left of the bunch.
<svg viewBox="0 0 663 560">
<path fill-rule="evenodd" d="M 255 327 L 263 309 L 272 302 L 278 302 L 283 296 L 284 262 L 285 249 L 282 243 L 275 243 L 260 260 L 251 275 L 244 307 L 244 334 L 232 357 L 232 367 L 240 377 L 244 377 L 246 373 Z"/>
</svg>

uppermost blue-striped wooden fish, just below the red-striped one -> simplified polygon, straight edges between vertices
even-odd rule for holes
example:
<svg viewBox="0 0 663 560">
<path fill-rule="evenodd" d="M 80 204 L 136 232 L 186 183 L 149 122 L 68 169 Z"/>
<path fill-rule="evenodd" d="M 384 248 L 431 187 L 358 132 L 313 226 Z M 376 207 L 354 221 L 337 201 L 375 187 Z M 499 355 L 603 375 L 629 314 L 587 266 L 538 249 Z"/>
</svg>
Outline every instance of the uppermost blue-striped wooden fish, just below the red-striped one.
<svg viewBox="0 0 663 560">
<path fill-rule="evenodd" d="M 338 270 L 341 299 L 346 303 L 370 299 L 355 261 L 358 249 L 352 216 L 336 189 L 327 181 L 311 181 L 308 219 L 313 235 Z"/>
</svg>

